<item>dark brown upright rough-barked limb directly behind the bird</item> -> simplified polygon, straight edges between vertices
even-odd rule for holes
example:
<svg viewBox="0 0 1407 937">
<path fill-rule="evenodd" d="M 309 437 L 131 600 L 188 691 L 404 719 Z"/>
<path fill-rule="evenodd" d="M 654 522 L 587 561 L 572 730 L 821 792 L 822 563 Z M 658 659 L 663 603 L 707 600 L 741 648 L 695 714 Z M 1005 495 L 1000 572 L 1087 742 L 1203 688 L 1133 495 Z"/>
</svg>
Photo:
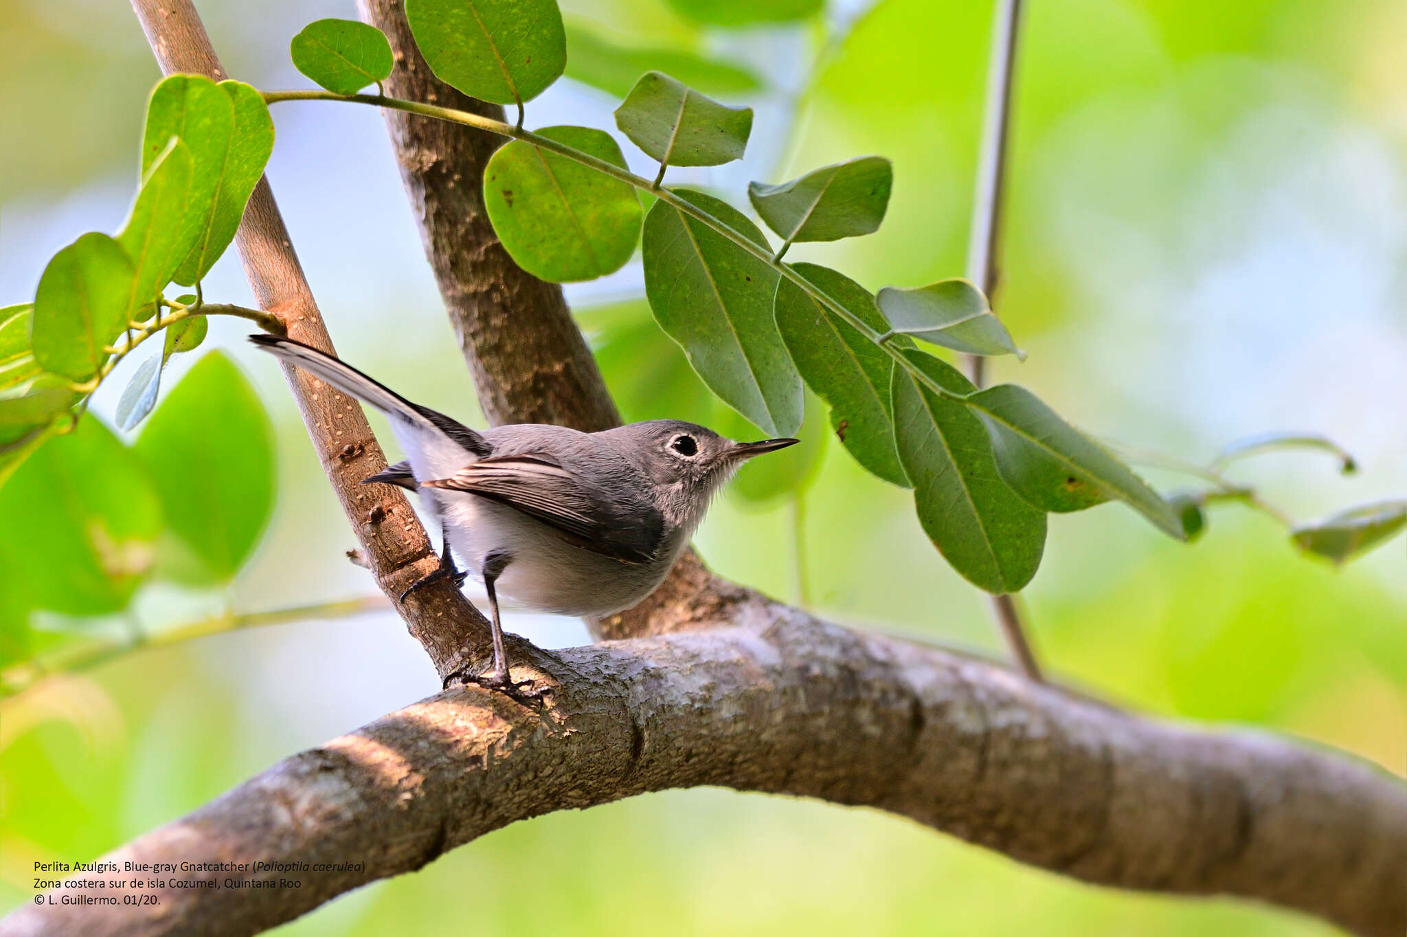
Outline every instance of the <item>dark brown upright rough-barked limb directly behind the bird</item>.
<svg viewBox="0 0 1407 937">
<path fill-rule="evenodd" d="M 395 51 L 386 96 L 504 119 L 499 105 L 467 97 L 435 77 L 415 46 L 401 0 L 357 0 L 357 8 Z M 488 223 L 484 166 L 504 140 L 405 111 L 383 114 L 484 416 L 494 424 L 556 423 L 587 433 L 620 426 L 561 287 L 515 264 Z M 723 584 L 691 549 L 639 605 L 587 625 L 597 638 L 680 631 L 692 627 L 698 605 L 706 607 Z"/>
</svg>

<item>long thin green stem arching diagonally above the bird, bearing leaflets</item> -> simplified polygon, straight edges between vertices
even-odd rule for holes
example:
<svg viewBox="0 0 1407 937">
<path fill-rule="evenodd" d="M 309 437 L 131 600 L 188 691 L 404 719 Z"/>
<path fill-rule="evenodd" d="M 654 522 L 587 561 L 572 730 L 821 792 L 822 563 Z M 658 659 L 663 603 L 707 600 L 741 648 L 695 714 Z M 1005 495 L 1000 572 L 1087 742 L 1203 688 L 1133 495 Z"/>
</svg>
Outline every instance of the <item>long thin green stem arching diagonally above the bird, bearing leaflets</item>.
<svg viewBox="0 0 1407 937">
<path fill-rule="evenodd" d="M 782 277 L 794 282 L 796 287 L 799 287 L 808 296 L 815 299 L 817 303 L 820 303 L 834 315 L 840 316 L 840 319 L 843 319 L 848 326 L 855 329 L 865 339 L 879 346 L 885 351 L 885 354 L 893 358 L 895 362 L 900 368 L 903 368 L 909 375 L 912 375 L 915 381 L 917 381 L 920 385 L 923 385 L 933 393 L 937 393 L 938 396 L 948 398 L 953 400 L 961 400 L 964 396 L 961 393 L 954 393 L 953 391 L 940 385 L 923 368 L 909 361 L 909 358 L 906 358 L 899 348 L 893 347 L 889 343 L 879 341 L 881 333 L 877 329 L 874 329 L 870 323 L 867 323 L 855 313 L 846 309 L 839 301 L 832 298 L 827 292 L 817 288 L 805 277 L 802 277 L 795 270 L 792 270 L 781 260 L 778 260 L 772 254 L 771 247 L 758 244 L 753 242 L 750 237 L 746 237 L 744 235 L 733 230 L 729 225 L 719 221 L 713 215 L 708 214 L 702 208 L 698 208 L 684 197 L 675 194 L 673 190 L 657 187 L 654 183 L 644 178 L 643 176 L 636 176 L 630 170 L 620 169 L 619 166 L 608 163 L 604 159 L 592 156 L 591 153 L 582 153 L 581 150 L 568 146 L 566 143 L 561 143 L 559 140 L 540 136 L 537 133 L 533 133 L 532 131 L 525 131 L 519 126 L 512 126 L 511 124 L 505 124 L 504 121 L 495 121 L 490 117 L 470 114 L 469 111 L 456 111 L 454 108 L 440 107 L 438 104 L 404 101 L 401 98 L 391 98 L 380 94 L 336 94 L 333 91 L 300 89 L 293 91 L 265 91 L 263 98 L 267 104 L 277 104 L 280 101 L 346 101 L 352 104 L 369 104 L 371 107 L 388 107 L 395 111 L 405 111 L 407 114 L 432 117 L 440 121 L 449 121 L 452 124 L 463 124 L 464 126 L 473 126 L 481 131 L 488 131 L 490 133 L 497 133 L 499 136 L 508 136 L 516 140 L 528 140 L 529 143 L 540 149 L 557 153 L 559 156 L 564 156 L 570 160 L 581 163 L 582 166 L 590 166 L 591 169 L 599 173 L 605 173 L 611 178 L 620 180 L 622 183 L 628 183 L 630 185 L 635 185 L 636 188 L 651 191 L 658 197 L 660 201 L 671 205 L 677 211 L 691 218 L 704 222 L 715 232 L 718 232 L 723 237 L 729 239 L 730 242 L 733 242 L 734 244 L 750 253 L 753 257 L 757 257 L 767 266 L 772 267 L 778 274 L 781 274 Z"/>
</svg>

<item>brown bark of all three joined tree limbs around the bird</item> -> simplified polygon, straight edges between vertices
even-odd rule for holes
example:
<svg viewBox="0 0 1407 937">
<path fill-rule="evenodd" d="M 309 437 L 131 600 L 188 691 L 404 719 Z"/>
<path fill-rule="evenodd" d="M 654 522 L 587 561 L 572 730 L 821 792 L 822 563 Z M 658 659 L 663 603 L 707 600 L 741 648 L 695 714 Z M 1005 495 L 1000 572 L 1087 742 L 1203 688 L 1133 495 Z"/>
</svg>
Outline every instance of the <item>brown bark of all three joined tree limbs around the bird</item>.
<svg viewBox="0 0 1407 937">
<path fill-rule="evenodd" d="M 189 1 L 134 6 L 165 69 L 218 74 Z M 407 63 L 398 4 L 363 0 L 363 10 L 400 48 L 391 90 L 445 103 L 424 63 Z M 469 133 L 422 136 L 421 126 L 391 124 L 485 413 L 612 424 L 560 291 L 532 285 L 488 232 L 477 201 L 487 149 Z M 329 347 L 265 184 L 239 246 L 260 305 Z M 353 482 L 383 464 L 360 410 L 290 379 L 378 582 L 428 570 L 433 553 L 394 492 L 390 502 L 380 492 L 370 506 L 356 500 L 364 489 Z M 360 514 L 386 504 L 402 511 L 398 532 L 384 530 L 387 514 Z M 481 636 L 481 618 L 443 591 L 453 594 L 438 605 L 432 593 L 401 607 L 436 666 L 474 655 Z M 860 635 L 718 580 L 692 556 L 643 610 L 598 628 L 678 634 L 554 653 L 515 642 L 514 676 L 532 677 L 546 691 L 539 701 L 445 691 L 293 756 L 106 857 L 120 868 L 362 867 L 180 870 L 158 905 L 31 905 L 0 922 L 0 934 L 255 933 L 516 819 L 699 784 L 874 806 L 1089 882 L 1261 899 L 1362 934 L 1407 929 L 1407 787 L 1346 756 L 1141 719 L 996 664 Z M 179 886 L 290 874 L 303 888 Z"/>
</svg>

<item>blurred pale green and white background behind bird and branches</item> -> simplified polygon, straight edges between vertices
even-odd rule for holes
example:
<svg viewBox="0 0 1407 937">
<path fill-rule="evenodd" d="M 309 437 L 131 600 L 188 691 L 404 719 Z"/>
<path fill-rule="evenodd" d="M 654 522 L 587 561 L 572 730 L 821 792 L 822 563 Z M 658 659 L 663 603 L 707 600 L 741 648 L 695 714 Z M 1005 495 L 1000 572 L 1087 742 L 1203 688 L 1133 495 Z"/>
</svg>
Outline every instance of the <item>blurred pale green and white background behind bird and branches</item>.
<svg viewBox="0 0 1407 937">
<path fill-rule="evenodd" d="M 879 233 L 798 246 L 791 257 L 834 264 L 871 289 L 962 273 L 989 4 L 833 0 L 803 24 L 729 30 L 691 21 L 680 13 L 691 4 L 675 1 L 563 3 L 582 60 L 597 41 L 736 66 L 737 74 L 713 80 L 732 81 L 727 100 L 757 108 L 747 159 L 671 170 L 671 180 L 746 208 L 750 178 L 881 153 L 893 160 L 895 187 Z M 1235 471 L 1296 517 L 1400 497 L 1407 6 L 1029 6 L 1000 310 L 1030 360 L 996 361 L 995 378 L 1021 381 L 1099 435 L 1183 458 L 1266 430 L 1327 433 L 1359 458 L 1359 475 L 1344 478 L 1317 454 L 1268 455 Z M 305 86 L 288 39 L 311 20 L 356 15 L 350 0 L 198 7 L 231 74 L 260 87 Z M 121 223 L 158 72 L 117 0 L 0 0 L 0 302 L 23 302 L 56 249 Z M 567 80 L 529 107 L 529 122 L 613 131 L 613 105 Z M 474 421 L 473 388 L 380 117 L 280 104 L 274 118 L 269 176 L 340 353 L 412 399 Z M 205 295 L 252 303 L 234 251 Z M 640 295 L 637 263 L 568 288 L 622 410 L 727 424 Z M 246 353 L 242 333 L 212 323 L 208 344 L 242 362 L 273 414 L 279 507 L 227 594 L 142 593 L 135 620 L 153 634 L 224 607 L 262 611 L 373 591 L 343 556 L 350 534 L 277 368 Z M 174 361 L 172 378 L 189 364 Z M 98 393 L 96 413 L 111 414 L 124 376 Z M 823 424 L 813 421 L 808 435 L 816 441 L 808 452 L 744 476 L 715 509 L 698 535 L 708 562 L 860 628 L 999 653 L 985 601 L 923 538 L 910 496 L 867 476 Z M 1027 604 L 1038 652 L 1071 681 L 1173 719 L 1294 733 L 1401 774 L 1404 572 L 1400 539 L 1335 570 L 1235 506 L 1216 510 L 1193 546 L 1106 506 L 1051 518 Z M 508 627 L 546 645 L 585 641 L 575 621 L 509 614 Z M 6 700 L 0 910 L 30 899 L 35 860 L 91 858 L 435 688 L 418 645 L 394 617 L 374 612 L 136 652 Z M 613 936 L 1330 930 L 1231 900 L 1083 886 L 877 812 L 698 789 L 518 823 L 281 933 L 525 927 Z"/>
</svg>

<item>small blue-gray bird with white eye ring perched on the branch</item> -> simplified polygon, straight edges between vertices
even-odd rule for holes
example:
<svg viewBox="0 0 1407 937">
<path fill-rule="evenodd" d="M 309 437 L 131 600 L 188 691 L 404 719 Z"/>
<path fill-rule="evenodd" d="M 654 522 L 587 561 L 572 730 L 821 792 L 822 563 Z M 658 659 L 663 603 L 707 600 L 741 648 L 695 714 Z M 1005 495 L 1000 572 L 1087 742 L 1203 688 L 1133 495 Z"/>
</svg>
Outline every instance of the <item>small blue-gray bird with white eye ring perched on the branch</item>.
<svg viewBox="0 0 1407 937">
<path fill-rule="evenodd" d="M 623 611 L 664 580 L 744 461 L 796 443 L 734 443 L 682 420 L 601 433 L 532 423 L 476 431 L 300 341 L 249 340 L 390 417 L 409 458 L 366 482 L 418 490 L 445 532 L 439 569 L 405 594 L 436 579 L 464 582 L 450 548 L 483 580 L 494 628 L 485 686 L 508 683 L 498 589 L 536 611 Z"/>
</svg>

